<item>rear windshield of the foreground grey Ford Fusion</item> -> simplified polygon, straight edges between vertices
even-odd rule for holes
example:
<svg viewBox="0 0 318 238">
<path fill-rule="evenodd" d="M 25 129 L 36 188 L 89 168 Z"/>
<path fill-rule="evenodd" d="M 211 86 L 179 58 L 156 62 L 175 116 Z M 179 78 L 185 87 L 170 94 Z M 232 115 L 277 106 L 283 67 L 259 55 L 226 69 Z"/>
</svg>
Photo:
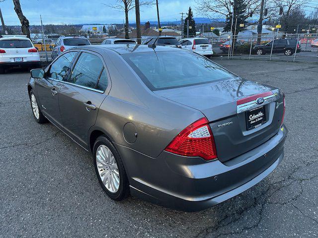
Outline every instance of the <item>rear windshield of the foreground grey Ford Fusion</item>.
<svg viewBox="0 0 318 238">
<path fill-rule="evenodd" d="M 132 53 L 123 55 L 123 58 L 152 91 L 236 77 L 214 62 L 192 52 Z"/>
</svg>

